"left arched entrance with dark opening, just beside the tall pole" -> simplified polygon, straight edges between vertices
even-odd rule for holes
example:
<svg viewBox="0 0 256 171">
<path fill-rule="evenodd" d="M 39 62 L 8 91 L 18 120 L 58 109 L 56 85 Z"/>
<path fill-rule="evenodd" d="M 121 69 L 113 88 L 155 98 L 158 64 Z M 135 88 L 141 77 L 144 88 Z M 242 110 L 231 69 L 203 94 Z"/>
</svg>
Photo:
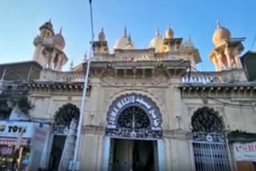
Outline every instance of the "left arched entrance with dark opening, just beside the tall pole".
<svg viewBox="0 0 256 171">
<path fill-rule="evenodd" d="M 58 165 L 60 163 L 64 145 L 66 142 L 66 137 L 70 130 L 71 121 L 79 120 L 80 111 L 76 105 L 68 103 L 62 105 L 61 108 L 55 113 L 54 116 L 54 137 L 52 148 L 50 152 L 50 170 L 58 170 Z"/>
</svg>

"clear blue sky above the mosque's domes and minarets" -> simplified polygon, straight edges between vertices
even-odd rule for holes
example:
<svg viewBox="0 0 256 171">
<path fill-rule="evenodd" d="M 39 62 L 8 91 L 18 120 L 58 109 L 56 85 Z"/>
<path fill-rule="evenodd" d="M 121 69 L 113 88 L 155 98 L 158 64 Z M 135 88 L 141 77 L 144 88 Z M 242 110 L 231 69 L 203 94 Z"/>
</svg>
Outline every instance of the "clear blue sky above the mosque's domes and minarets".
<svg viewBox="0 0 256 171">
<path fill-rule="evenodd" d="M 202 64 L 198 70 L 214 70 L 208 59 L 213 48 L 212 35 L 216 20 L 228 28 L 234 38 L 246 37 L 244 46 L 250 50 L 256 34 L 254 0 L 92 0 L 95 36 L 104 27 L 110 50 L 127 26 L 137 47 L 148 47 L 159 26 L 164 34 L 170 25 L 174 37 L 190 34 L 198 47 Z M 82 61 L 90 42 L 90 11 L 88 0 L 1 0 L 0 1 L 0 63 L 31 60 L 34 37 L 38 27 L 52 19 L 54 30 L 63 27 L 65 52 Z M 255 50 L 256 45 L 253 50 Z M 66 64 L 68 68 L 70 62 Z"/>
</svg>

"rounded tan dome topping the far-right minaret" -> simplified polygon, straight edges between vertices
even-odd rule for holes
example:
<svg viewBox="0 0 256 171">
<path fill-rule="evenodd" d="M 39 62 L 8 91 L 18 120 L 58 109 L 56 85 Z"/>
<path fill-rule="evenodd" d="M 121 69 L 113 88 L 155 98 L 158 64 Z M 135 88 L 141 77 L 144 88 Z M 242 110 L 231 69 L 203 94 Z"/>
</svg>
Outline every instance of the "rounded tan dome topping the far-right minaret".
<svg viewBox="0 0 256 171">
<path fill-rule="evenodd" d="M 227 30 L 225 27 L 220 26 L 220 23 L 217 22 L 217 29 L 214 31 L 213 43 L 214 46 L 218 46 L 226 39 L 231 37 L 230 30 Z"/>
</svg>

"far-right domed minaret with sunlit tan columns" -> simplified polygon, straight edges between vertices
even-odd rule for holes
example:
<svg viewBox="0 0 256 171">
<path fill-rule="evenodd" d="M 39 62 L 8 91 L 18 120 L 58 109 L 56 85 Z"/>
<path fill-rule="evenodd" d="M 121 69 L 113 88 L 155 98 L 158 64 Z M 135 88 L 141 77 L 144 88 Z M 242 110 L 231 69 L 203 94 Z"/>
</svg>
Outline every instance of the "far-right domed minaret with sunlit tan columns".
<svg viewBox="0 0 256 171">
<path fill-rule="evenodd" d="M 245 38 L 231 38 L 230 30 L 217 22 L 217 29 L 213 35 L 214 50 L 210 52 L 210 61 L 214 63 L 216 71 L 242 68 L 240 54 L 244 47 Z"/>
</svg>

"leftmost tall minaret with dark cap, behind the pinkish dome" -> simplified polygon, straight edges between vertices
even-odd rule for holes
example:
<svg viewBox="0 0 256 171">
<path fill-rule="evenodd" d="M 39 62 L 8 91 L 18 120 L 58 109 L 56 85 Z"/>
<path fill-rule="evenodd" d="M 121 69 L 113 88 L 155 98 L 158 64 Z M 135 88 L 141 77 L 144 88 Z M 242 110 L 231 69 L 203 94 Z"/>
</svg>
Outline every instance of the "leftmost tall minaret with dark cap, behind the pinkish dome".
<svg viewBox="0 0 256 171">
<path fill-rule="evenodd" d="M 44 42 L 51 42 L 51 38 L 54 36 L 54 28 L 49 20 L 49 22 L 44 23 L 39 27 L 40 34 L 34 38 L 34 57 L 33 60 L 38 62 L 41 66 L 45 65 L 45 60 L 42 57 L 42 49 Z"/>
</svg>

